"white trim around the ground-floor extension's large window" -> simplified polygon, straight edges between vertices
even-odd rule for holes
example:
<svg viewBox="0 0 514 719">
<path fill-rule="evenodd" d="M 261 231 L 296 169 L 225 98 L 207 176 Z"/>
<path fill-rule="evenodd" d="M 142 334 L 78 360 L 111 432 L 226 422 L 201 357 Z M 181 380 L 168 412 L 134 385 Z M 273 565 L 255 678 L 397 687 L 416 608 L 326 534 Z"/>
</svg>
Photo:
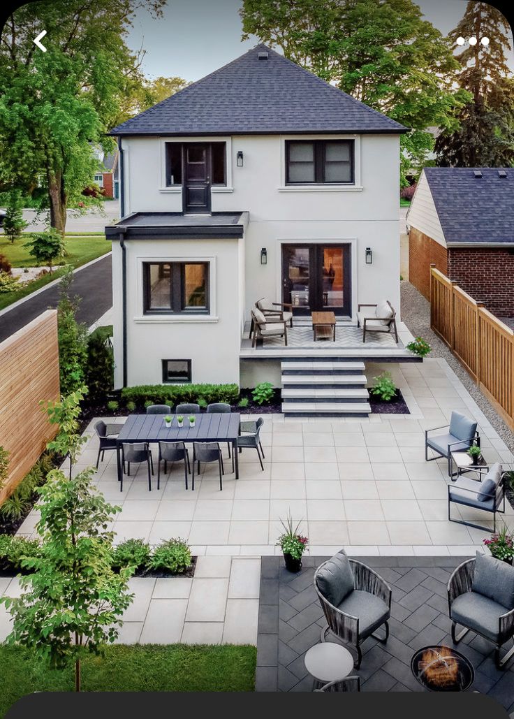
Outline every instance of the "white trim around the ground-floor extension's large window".
<svg viewBox="0 0 514 719">
<path fill-rule="evenodd" d="M 132 317 L 132 321 L 137 324 L 212 324 L 218 322 L 216 306 L 216 257 L 213 255 L 202 255 L 201 257 L 191 257 L 191 255 L 174 255 L 170 257 L 144 257 L 138 255 L 135 258 L 137 291 L 136 291 L 136 307 L 139 314 Z M 207 262 L 208 263 L 208 288 L 209 288 L 209 313 L 208 314 L 144 314 L 144 296 L 143 296 L 143 264 L 146 262 Z"/>
</svg>

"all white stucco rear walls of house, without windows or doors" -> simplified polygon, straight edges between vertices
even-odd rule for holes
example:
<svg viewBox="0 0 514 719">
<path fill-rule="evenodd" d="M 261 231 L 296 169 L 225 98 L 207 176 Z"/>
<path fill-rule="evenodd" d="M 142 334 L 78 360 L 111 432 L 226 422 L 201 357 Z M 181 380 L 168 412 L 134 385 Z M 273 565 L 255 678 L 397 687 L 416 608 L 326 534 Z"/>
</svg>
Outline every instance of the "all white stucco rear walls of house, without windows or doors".
<svg viewBox="0 0 514 719">
<path fill-rule="evenodd" d="M 355 140 L 355 186 L 285 186 L 285 139 Z M 181 188 L 165 188 L 165 142 L 172 138 L 123 140 L 125 215 L 182 211 Z M 396 135 L 290 135 L 173 138 L 227 143 L 226 187 L 213 188 L 214 212 L 248 211 L 239 240 L 127 240 L 128 383 L 160 383 L 161 359 L 193 359 L 193 382 L 237 382 L 244 320 L 262 296 L 280 301 L 283 242 L 352 245 L 352 315 L 357 304 L 387 298 L 400 313 L 399 137 Z M 236 164 L 242 150 L 244 166 Z M 117 322 L 115 357 L 121 365 L 121 261 L 113 242 Z M 267 265 L 260 250 L 267 248 Z M 366 265 L 365 249 L 373 252 Z M 216 316 L 142 316 L 142 257 L 173 260 L 213 257 Z M 139 264 L 138 264 L 139 263 Z M 211 298 L 212 301 L 212 298 Z M 116 367 L 116 386 L 121 367 Z"/>
</svg>

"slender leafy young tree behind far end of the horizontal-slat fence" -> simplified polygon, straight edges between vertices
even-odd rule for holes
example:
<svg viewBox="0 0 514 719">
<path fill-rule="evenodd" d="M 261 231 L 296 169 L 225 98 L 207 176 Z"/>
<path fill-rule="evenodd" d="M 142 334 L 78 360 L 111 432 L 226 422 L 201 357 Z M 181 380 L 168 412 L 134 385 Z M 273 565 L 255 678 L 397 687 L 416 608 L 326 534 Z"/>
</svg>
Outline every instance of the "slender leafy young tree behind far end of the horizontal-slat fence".
<svg viewBox="0 0 514 719">
<path fill-rule="evenodd" d="M 71 296 L 73 271 L 68 270 L 60 280 L 58 304 L 58 344 L 60 391 L 69 395 L 81 390 L 85 383 L 88 359 L 88 329 L 77 322 L 78 297 Z"/>
</svg>

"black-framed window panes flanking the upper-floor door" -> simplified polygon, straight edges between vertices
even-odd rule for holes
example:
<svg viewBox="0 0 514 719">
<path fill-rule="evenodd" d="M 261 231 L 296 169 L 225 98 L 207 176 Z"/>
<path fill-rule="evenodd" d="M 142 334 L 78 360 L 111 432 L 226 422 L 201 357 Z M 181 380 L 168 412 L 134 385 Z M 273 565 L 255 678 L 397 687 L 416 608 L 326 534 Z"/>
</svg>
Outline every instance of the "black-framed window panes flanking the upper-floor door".
<svg viewBox="0 0 514 719">
<path fill-rule="evenodd" d="M 226 185 L 226 142 L 203 142 L 194 147 L 184 147 L 182 142 L 166 142 L 166 186 L 182 184 L 185 164 L 188 179 L 195 179 L 196 165 L 199 170 L 206 166 L 206 157 L 201 153 L 210 157 L 207 166 L 211 167 L 211 184 Z"/>
</svg>

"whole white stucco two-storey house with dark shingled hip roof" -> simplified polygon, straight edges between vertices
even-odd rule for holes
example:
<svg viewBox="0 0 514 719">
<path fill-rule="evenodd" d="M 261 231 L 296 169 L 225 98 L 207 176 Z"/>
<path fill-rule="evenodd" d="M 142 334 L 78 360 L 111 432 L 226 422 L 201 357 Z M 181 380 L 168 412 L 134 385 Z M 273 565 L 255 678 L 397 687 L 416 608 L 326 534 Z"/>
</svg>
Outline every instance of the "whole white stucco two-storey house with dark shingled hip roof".
<svg viewBox="0 0 514 719">
<path fill-rule="evenodd" d="M 265 45 L 112 129 L 116 387 L 264 379 L 244 339 L 264 296 L 298 326 L 383 298 L 399 316 L 406 130 Z"/>
</svg>

